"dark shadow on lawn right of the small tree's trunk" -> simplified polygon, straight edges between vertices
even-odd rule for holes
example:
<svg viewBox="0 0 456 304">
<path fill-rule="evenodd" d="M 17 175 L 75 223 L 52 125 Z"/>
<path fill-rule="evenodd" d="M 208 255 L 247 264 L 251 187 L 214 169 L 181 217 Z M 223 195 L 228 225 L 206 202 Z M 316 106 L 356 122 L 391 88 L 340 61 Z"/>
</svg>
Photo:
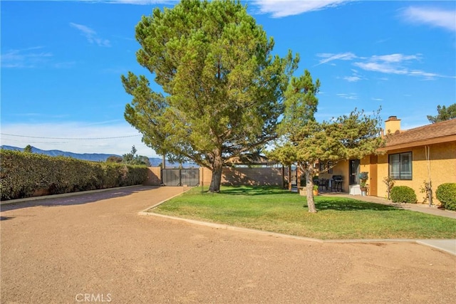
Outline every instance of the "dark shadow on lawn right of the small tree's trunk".
<svg viewBox="0 0 456 304">
<path fill-rule="evenodd" d="M 305 205 L 307 206 L 307 204 Z M 366 201 L 356 201 L 353 199 L 318 199 L 315 201 L 316 209 L 318 210 L 337 210 L 337 211 L 358 211 L 358 210 L 374 210 L 374 211 L 398 211 L 395 206 L 383 204 L 369 203 Z"/>
</svg>

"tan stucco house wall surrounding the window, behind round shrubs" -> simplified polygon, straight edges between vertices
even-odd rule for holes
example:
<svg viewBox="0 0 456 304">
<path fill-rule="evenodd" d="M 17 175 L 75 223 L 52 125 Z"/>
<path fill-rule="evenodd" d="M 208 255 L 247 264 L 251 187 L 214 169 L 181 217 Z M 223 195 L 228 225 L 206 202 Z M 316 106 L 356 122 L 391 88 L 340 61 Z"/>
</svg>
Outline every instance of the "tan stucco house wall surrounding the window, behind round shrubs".
<svg viewBox="0 0 456 304">
<path fill-rule="evenodd" d="M 430 145 L 430 179 L 434 192 L 440 184 L 456 182 L 456 142 Z M 425 147 L 406 148 L 388 151 L 387 154 L 378 155 L 378 195 L 386 197 L 386 185 L 383 178 L 388 177 L 388 154 L 412 152 L 412 180 L 396 180 L 395 186 L 408 186 L 415 190 L 418 202 L 423 201 L 424 194 L 420 193 L 423 182 L 429 180 Z M 434 203 L 440 204 L 435 199 Z"/>
</svg>

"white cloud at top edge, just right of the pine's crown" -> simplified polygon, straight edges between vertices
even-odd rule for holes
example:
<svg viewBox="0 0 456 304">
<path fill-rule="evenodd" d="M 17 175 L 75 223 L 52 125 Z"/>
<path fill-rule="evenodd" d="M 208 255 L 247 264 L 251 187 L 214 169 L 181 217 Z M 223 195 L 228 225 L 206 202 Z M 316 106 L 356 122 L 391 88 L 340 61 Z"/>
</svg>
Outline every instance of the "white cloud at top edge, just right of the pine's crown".
<svg viewBox="0 0 456 304">
<path fill-rule="evenodd" d="M 254 0 L 259 14 L 271 14 L 274 18 L 299 15 L 308 11 L 318 11 L 346 4 L 351 0 Z"/>
</svg>

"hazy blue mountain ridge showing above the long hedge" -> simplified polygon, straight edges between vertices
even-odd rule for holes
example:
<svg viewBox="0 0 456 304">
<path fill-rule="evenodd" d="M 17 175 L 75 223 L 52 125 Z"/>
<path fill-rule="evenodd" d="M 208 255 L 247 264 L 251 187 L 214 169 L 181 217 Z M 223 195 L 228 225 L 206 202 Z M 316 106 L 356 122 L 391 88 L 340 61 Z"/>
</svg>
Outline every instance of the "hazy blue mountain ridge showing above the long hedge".
<svg viewBox="0 0 456 304">
<path fill-rule="evenodd" d="M 1 149 L 5 150 L 15 150 L 15 151 L 24 151 L 24 148 L 19 148 L 19 147 L 12 147 L 12 146 L 0 146 Z M 89 160 L 90 162 L 105 162 L 106 159 L 110 156 L 118 156 L 122 157 L 122 155 L 118 154 L 103 154 L 103 153 L 73 153 L 73 152 L 66 152 L 66 151 L 61 151 L 61 150 L 41 150 L 36 147 L 32 147 L 31 151 L 33 153 L 38 153 L 38 154 L 45 154 L 45 155 L 50 155 L 50 156 L 65 156 L 65 157 L 73 157 L 76 159 L 83 159 L 83 160 Z M 157 167 L 159 164 L 162 163 L 162 158 L 161 157 L 149 157 L 150 164 L 152 167 Z M 166 162 L 167 167 L 174 167 L 175 164 L 172 164 L 170 162 Z M 185 167 L 188 167 L 187 165 Z"/>
</svg>

